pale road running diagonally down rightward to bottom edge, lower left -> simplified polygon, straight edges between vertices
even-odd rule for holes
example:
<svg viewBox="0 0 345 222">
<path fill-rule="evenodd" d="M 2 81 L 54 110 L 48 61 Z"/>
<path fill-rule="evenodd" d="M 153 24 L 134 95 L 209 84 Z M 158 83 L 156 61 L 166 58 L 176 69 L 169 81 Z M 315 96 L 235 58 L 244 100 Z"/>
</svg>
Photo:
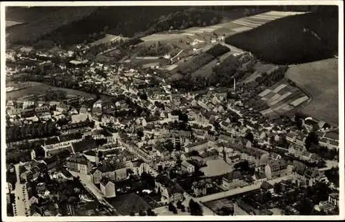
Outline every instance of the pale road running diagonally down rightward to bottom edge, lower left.
<svg viewBox="0 0 345 222">
<path fill-rule="evenodd" d="M 83 186 L 86 188 L 86 190 L 92 192 L 92 194 L 94 194 L 101 203 L 105 203 L 106 205 L 108 205 L 108 207 L 112 209 L 112 211 L 115 212 L 117 216 L 121 216 L 121 214 L 119 214 L 119 212 L 117 212 L 117 210 L 110 203 L 108 203 L 108 201 L 106 201 L 106 199 L 104 198 L 101 191 L 97 188 L 97 186 L 94 183 L 92 183 L 92 181 L 90 181 L 90 175 L 81 174 L 81 173 L 73 172 L 73 171 L 69 171 L 69 172 L 70 174 L 72 174 L 72 176 L 75 176 L 75 177 L 79 176 L 79 179 L 81 183 L 83 184 Z"/>
</svg>

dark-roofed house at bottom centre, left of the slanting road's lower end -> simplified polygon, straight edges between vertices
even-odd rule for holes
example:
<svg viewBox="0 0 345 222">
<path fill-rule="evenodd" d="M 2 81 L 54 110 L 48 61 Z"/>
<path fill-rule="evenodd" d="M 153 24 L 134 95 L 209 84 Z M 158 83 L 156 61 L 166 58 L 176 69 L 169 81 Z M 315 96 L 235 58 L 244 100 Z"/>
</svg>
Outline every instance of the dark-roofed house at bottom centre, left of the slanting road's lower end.
<svg viewBox="0 0 345 222">
<path fill-rule="evenodd" d="M 155 192 L 161 192 L 163 203 L 177 202 L 184 199 L 184 190 L 168 176 L 158 174 L 155 178 Z"/>
</svg>

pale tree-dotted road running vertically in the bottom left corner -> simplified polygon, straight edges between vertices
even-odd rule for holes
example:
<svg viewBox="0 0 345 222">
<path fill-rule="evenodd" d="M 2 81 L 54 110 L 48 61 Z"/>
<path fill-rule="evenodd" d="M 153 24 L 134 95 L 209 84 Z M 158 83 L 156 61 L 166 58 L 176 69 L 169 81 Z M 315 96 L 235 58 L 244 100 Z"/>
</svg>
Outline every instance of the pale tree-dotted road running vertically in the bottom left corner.
<svg viewBox="0 0 345 222">
<path fill-rule="evenodd" d="M 17 174 L 17 183 L 14 189 L 15 201 L 12 204 L 13 212 L 14 212 L 14 216 L 26 216 L 26 214 L 30 214 L 28 192 L 26 191 L 26 185 L 20 183 L 19 164 L 14 165 L 14 168 Z"/>
</svg>

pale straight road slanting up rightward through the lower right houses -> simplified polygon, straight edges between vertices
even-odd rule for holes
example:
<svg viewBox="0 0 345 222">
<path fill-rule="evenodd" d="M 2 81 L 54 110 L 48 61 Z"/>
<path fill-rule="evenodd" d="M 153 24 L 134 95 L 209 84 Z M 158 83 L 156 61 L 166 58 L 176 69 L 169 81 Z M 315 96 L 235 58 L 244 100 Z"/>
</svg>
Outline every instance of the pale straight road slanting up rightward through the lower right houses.
<svg viewBox="0 0 345 222">
<path fill-rule="evenodd" d="M 282 177 L 272 179 L 272 180 L 267 181 L 267 182 L 273 185 L 273 184 L 279 183 L 280 181 L 283 181 L 283 180 L 292 179 L 292 177 L 293 177 L 292 175 L 282 176 Z M 237 189 L 233 189 L 233 190 L 228 190 L 226 192 L 219 192 L 217 194 L 202 196 L 202 197 L 195 199 L 195 201 L 201 202 L 201 203 L 205 203 L 208 201 L 214 201 L 214 200 L 221 199 L 221 198 L 224 198 L 227 196 L 233 196 L 236 194 L 242 194 L 244 192 L 249 192 L 251 190 L 257 190 L 260 188 L 260 185 L 261 185 L 261 183 L 246 185 L 243 188 L 237 188 Z"/>
</svg>

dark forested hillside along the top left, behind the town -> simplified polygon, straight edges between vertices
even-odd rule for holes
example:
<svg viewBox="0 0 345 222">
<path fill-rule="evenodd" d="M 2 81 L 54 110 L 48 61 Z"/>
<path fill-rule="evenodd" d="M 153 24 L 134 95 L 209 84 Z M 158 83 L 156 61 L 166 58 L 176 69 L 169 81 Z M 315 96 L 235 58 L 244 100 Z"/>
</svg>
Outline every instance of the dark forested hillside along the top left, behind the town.
<svg viewBox="0 0 345 222">
<path fill-rule="evenodd" d="M 98 34 L 106 26 L 108 34 L 133 37 L 136 32 L 144 32 L 146 25 L 152 20 L 186 7 L 51 7 L 50 13 L 47 12 L 50 7 L 34 8 L 43 16 L 37 19 L 31 12 L 26 12 L 27 21 L 31 22 L 7 30 L 11 43 L 28 44 L 39 39 L 51 39 L 61 45 L 70 45 L 83 42 L 88 39 L 89 34 Z M 13 13 L 8 14 L 15 18 Z"/>
</svg>

